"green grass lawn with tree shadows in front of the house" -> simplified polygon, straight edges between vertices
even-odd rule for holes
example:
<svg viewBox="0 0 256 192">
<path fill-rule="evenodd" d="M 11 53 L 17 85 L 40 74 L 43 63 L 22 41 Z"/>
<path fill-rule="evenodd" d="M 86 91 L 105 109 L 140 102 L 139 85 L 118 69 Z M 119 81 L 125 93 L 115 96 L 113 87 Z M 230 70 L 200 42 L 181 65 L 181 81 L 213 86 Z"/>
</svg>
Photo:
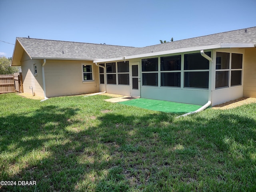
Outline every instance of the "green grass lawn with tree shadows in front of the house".
<svg viewBox="0 0 256 192">
<path fill-rule="evenodd" d="M 256 191 L 256 104 L 175 118 L 108 98 L 0 94 L 0 191 Z"/>
</svg>

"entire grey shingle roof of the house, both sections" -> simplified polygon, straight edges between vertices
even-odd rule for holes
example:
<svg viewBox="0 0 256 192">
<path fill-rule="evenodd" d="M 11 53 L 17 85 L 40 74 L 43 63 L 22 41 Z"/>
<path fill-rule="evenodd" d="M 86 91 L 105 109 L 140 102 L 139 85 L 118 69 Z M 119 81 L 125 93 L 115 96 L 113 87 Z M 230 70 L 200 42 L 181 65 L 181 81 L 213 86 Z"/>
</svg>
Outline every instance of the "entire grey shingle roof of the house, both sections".
<svg viewBox="0 0 256 192">
<path fill-rule="evenodd" d="M 31 58 L 108 59 L 220 43 L 256 44 L 256 27 L 178 40 L 142 48 L 33 38 L 17 38 Z M 64 54 L 63 54 L 64 52 Z"/>
</svg>

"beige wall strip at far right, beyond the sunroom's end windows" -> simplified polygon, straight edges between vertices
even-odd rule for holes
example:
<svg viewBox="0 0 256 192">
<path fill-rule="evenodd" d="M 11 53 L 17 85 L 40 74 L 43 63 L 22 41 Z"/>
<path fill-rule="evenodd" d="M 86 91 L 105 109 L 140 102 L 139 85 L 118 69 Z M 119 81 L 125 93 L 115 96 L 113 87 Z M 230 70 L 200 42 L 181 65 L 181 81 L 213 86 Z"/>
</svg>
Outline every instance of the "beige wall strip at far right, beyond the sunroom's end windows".
<svg viewBox="0 0 256 192">
<path fill-rule="evenodd" d="M 256 48 L 245 49 L 244 97 L 256 97 Z"/>
</svg>

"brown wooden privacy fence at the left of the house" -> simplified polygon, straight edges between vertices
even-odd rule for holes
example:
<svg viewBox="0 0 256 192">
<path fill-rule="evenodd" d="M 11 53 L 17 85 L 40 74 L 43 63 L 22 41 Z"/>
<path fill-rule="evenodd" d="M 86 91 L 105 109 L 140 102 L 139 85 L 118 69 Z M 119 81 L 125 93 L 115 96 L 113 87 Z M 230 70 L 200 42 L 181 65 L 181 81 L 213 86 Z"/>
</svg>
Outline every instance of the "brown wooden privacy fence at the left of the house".
<svg viewBox="0 0 256 192">
<path fill-rule="evenodd" d="M 0 75 L 0 94 L 12 92 L 23 92 L 21 73 Z"/>
</svg>

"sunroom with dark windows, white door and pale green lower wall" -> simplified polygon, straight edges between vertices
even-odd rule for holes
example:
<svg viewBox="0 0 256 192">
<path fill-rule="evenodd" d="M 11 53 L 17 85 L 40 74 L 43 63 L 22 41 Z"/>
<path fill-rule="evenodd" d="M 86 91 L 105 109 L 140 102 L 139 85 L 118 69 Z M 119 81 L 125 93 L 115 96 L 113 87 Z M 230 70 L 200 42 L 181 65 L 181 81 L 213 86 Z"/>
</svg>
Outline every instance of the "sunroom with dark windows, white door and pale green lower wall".
<svg viewBox="0 0 256 192">
<path fill-rule="evenodd" d="M 100 68 L 100 90 L 133 96 L 135 88 L 142 98 L 220 104 L 243 96 L 243 53 L 244 49 L 216 49 L 100 63 L 106 68 Z"/>
</svg>

